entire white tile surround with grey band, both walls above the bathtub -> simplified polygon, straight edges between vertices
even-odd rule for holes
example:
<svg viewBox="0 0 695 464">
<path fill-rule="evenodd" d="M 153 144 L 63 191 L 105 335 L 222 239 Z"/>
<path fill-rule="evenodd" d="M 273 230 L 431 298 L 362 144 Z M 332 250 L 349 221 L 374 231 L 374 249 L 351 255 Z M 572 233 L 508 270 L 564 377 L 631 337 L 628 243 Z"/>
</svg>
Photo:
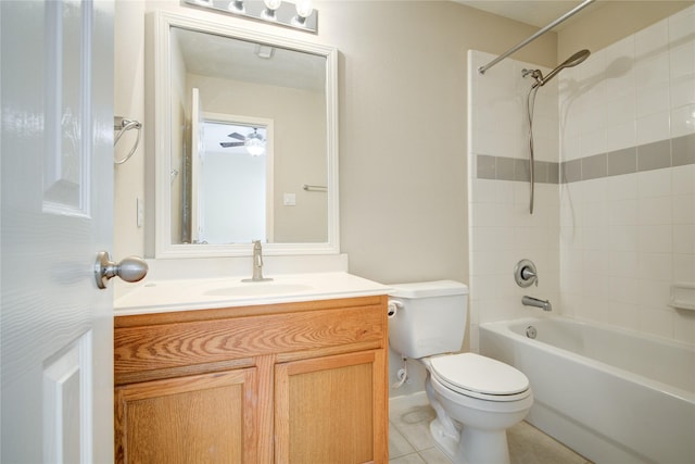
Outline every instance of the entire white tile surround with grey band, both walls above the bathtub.
<svg viewBox="0 0 695 464">
<path fill-rule="evenodd" d="M 541 314 L 522 294 L 695 343 L 695 313 L 668 305 L 672 283 L 695 284 L 695 7 L 592 51 L 539 90 L 533 215 L 529 65 L 505 60 L 479 75 L 492 58 L 469 54 L 471 346 L 478 324 Z M 514 283 L 522 258 L 535 262 L 538 288 Z"/>
</svg>

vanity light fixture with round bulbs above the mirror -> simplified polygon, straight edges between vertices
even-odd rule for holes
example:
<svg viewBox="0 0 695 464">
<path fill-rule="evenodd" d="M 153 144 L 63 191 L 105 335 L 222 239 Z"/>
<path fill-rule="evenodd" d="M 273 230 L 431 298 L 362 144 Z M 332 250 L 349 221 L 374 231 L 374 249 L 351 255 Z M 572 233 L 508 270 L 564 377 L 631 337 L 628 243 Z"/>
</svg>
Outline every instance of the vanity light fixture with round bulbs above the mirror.
<svg viewBox="0 0 695 464">
<path fill-rule="evenodd" d="M 182 0 L 182 3 L 314 34 L 318 30 L 318 12 L 312 0 L 295 0 L 294 3 L 285 0 Z"/>
</svg>

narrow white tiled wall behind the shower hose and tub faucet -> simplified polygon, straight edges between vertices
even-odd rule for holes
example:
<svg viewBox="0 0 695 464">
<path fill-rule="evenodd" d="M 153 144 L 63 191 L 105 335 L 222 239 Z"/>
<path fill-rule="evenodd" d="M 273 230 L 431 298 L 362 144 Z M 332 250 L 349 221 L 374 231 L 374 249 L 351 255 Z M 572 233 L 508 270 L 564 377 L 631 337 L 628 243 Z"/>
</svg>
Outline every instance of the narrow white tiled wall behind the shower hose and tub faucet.
<svg viewBox="0 0 695 464">
<path fill-rule="evenodd" d="M 495 55 L 470 51 L 469 224 L 470 346 L 478 325 L 541 313 L 521 297 L 559 299 L 559 184 L 557 81 L 539 89 L 533 112 L 536 176 L 534 213 L 529 214 L 529 123 L 527 98 L 533 80 L 522 70 L 538 66 L 503 60 L 484 75 L 478 67 Z M 549 70 L 541 68 L 544 74 Z M 548 173 L 555 173 L 554 175 Z M 519 288 L 514 268 L 532 260 L 539 286 Z"/>
</svg>

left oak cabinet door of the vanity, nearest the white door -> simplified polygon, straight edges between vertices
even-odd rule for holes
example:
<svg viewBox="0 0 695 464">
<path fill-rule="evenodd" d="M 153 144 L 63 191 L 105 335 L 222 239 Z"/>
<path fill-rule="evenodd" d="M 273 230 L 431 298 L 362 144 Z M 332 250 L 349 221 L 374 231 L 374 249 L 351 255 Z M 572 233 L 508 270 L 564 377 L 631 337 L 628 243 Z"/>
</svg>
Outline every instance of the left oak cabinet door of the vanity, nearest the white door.
<svg viewBox="0 0 695 464">
<path fill-rule="evenodd" d="M 116 463 L 257 461 L 256 368 L 115 390 Z"/>
</svg>

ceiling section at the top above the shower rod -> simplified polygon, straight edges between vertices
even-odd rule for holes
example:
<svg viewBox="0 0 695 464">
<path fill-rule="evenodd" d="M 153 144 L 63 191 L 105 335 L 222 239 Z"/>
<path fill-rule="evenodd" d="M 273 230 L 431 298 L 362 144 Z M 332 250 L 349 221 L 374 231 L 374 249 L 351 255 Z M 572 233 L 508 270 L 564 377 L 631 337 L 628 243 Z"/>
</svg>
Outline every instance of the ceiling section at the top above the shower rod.
<svg viewBox="0 0 695 464">
<path fill-rule="evenodd" d="M 553 21 L 563 16 L 565 13 L 582 3 L 581 0 L 453 0 L 472 7 L 478 10 L 486 11 L 509 20 L 519 21 L 536 27 L 544 27 Z M 596 2 L 598 3 L 598 2 Z M 590 8 L 598 7 L 596 3 Z M 568 22 L 571 20 L 568 20 Z M 561 29 L 565 22 L 555 27 Z"/>
</svg>

